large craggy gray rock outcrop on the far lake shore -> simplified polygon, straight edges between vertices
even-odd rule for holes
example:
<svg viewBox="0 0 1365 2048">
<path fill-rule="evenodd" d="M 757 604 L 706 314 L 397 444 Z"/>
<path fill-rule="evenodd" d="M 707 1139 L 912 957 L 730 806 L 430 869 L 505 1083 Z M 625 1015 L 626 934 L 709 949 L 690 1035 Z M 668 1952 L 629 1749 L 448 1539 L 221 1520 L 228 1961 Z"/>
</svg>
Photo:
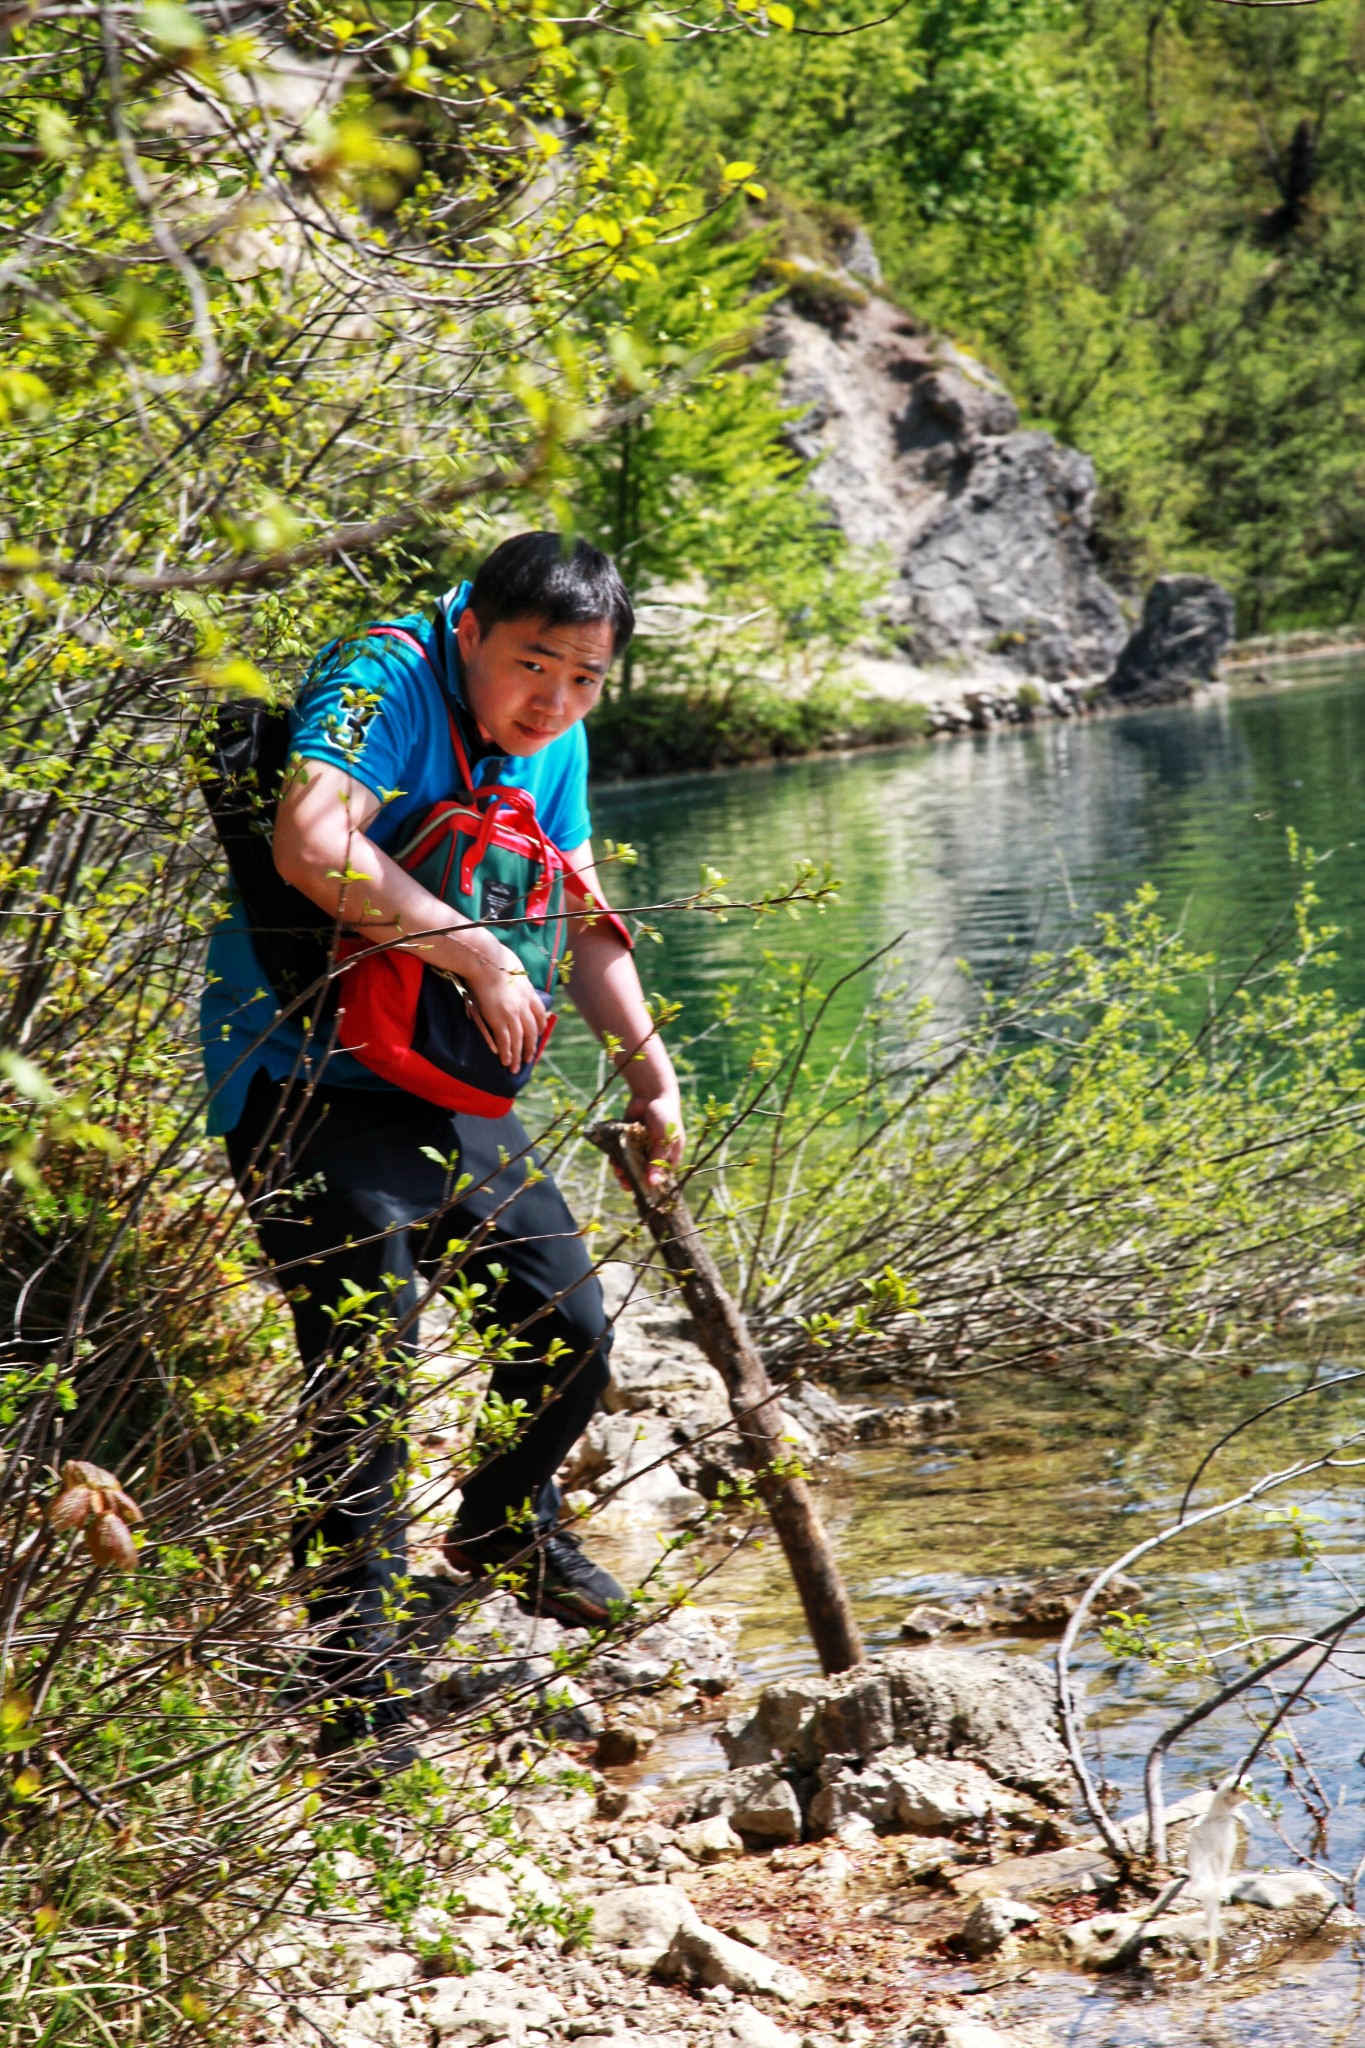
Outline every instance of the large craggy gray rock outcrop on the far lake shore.
<svg viewBox="0 0 1365 2048">
<path fill-rule="evenodd" d="M 1091 545 L 1089 457 L 1021 430 L 1009 391 L 964 350 L 847 270 L 833 281 L 839 319 L 821 317 L 812 283 L 792 287 L 767 348 L 804 408 L 792 444 L 817 465 L 814 489 L 849 541 L 890 551 L 886 614 L 905 651 L 1107 676 L 1128 627 Z"/>
</svg>

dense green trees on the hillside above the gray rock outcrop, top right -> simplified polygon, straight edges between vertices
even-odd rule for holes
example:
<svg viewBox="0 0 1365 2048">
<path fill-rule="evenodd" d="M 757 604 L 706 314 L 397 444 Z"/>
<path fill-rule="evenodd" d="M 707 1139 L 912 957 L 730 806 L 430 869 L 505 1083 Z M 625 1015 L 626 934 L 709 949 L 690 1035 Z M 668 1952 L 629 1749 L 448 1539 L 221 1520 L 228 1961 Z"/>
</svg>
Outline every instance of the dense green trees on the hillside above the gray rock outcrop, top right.
<svg viewBox="0 0 1365 2048">
<path fill-rule="evenodd" d="M 1207 569 L 1242 629 L 1361 608 L 1365 6 L 857 0 L 641 53 L 671 147 L 743 145 L 788 236 L 886 283 L 1095 457 L 1115 571 Z"/>
</svg>

